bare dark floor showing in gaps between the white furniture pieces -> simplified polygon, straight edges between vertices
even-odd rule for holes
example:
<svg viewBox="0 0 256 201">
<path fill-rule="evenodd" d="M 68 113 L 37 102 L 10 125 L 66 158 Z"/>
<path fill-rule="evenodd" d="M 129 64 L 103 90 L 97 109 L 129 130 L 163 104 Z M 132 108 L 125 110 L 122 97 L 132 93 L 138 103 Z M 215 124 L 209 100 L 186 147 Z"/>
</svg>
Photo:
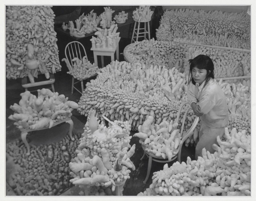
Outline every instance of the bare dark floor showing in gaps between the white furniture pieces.
<svg viewBox="0 0 256 201">
<path fill-rule="evenodd" d="M 60 64 L 62 66 L 62 70 L 55 74 L 55 83 L 54 83 L 55 91 L 58 92 L 59 94 L 64 94 L 65 97 L 69 97 L 70 101 L 79 102 L 81 94 L 74 90 L 74 93 L 71 95 L 72 77 L 70 74 L 66 73 L 68 69 L 67 69 L 65 62 L 61 61 L 61 59 L 65 57 L 64 49 L 65 49 L 66 44 L 70 42 L 70 39 L 66 36 L 60 36 L 60 35 L 57 35 L 57 38 L 58 38 L 57 45 L 59 48 L 59 59 L 60 59 Z M 92 63 L 93 62 L 93 52 L 90 51 L 91 42 L 89 41 L 89 38 L 81 39 L 79 41 L 86 48 L 87 56 Z M 131 41 L 131 39 L 129 39 L 129 38 L 128 39 L 121 38 L 120 43 L 119 43 L 119 52 L 120 53 L 123 52 L 123 49 L 125 48 L 125 46 L 130 44 L 130 41 Z M 100 57 L 98 57 L 98 59 L 99 59 L 98 64 L 101 65 Z M 120 54 L 120 56 L 119 56 L 119 61 L 124 61 L 124 57 L 122 54 Z M 105 66 L 107 64 L 109 64 L 110 58 L 104 59 L 104 63 L 105 63 Z M 99 66 L 99 67 L 101 67 L 101 66 Z M 96 76 L 93 77 L 92 79 L 95 79 L 95 78 L 96 78 Z M 90 79 L 88 79 L 88 81 L 90 81 Z M 86 83 L 84 82 L 84 87 L 86 87 L 85 85 L 86 85 Z M 44 87 L 47 87 L 47 86 L 44 86 Z M 79 87 L 81 87 L 81 86 L 78 85 L 78 89 L 80 89 Z M 36 89 L 34 89 L 34 90 L 36 90 Z M 41 88 L 39 88 L 39 89 L 41 89 Z M 29 91 L 31 91 L 31 90 L 33 90 L 33 89 L 29 89 Z M 13 121 L 10 121 L 8 119 L 8 117 L 13 114 L 13 111 L 11 109 L 9 109 L 9 107 L 11 105 L 13 105 L 14 103 L 19 102 L 20 93 L 23 93 L 24 91 L 25 90 L 21 86 L 21 79 L 6 80 L 6 143 L 12 142 L 16 139 L 20 139 L 20 131 L 13 125 Z M 37 95 L 37 92 L 32 92 L 32 93 Z M 72 114 L 73 114 L 73 117 L 76 117 L 80 122 L 82 122 L 82 124 L 86 123 L 87 118 L 85 116 L 80 115 L 80 113 L 77 112 L 76 110 L 73 110 Z M 131 135 L 133 135 L 134 133 L 135 133 L 135 131 L 132 131 Z M 130 173 L 131 178 L 129 180 L 127 180 L 125 183 L 125 187 L 124 187 L 124 191 L 123 191 L 124 196 L 136 196 L 138 193 L 143 192 L 152 183 L 151 178 L 153 176 L 153 172 L 162 170 L 163 166 L 165 164 L 165 163 L 157 163 L 157 162 L 153 161 L 150 177 L 149 177 L 147 183 L 143 184 L 143 181 L 146 177 L 146 172 L 147 172 L 148 158 L 144 158 L 143 160 L 140 160 L 140 158 L 143 156 L 143 150 L 142 150 L 140 144 L 138 143 L 138 138 L 136 138 L 136 137 L 132 138 L 130 144 L 131 145 L 136 144 L 136 154 L 134 154 L 134 156 L 131 158 L 131 160 L 133 161 L 133 163 L 136 167 L 136 170 L 132 171 Z M 181 160 L 186 161 L 187 156 L 190 156 L 190 158 L 192 160 L 194 160 L 195 159 L 194 152 L 195 152 L 194 147 L 190 147 L 190 146 L 185 147 L 183 145 Z M 173 162 L 175 162 L 175 161 L 176 160 L 169 162 L 168 166 L 170 167 L 173 164 Z M 7 189 L 6 194 L 12 195 L 11 189 Z M 66 194 L 64 193 L 63 195 L 77 196 L 78 192 L 75 190 L 70 190 Z"/>
</svg>

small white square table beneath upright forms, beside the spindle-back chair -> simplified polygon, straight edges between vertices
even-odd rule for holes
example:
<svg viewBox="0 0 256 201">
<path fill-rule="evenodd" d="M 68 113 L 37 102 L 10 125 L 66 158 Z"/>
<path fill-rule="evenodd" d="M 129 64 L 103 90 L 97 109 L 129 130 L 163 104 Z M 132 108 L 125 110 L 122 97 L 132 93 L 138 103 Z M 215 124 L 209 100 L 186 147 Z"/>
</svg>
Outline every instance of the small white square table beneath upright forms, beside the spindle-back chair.
<svg viewBox="0 0 256 201">
<path fill-rule="evenodd" d="M 116 39 L 116 46 L 109 49 L 108 47 L 106 48 L 91 48 L 91 50 L 93 51 L 93 56 L 94 56 L 94 63 L 95 66 L 98 66 L 98 60 L 97 60 L 97 56 L 101 56 L 101 65 L 102 68 L 104 67 L 104 56 L 111 56 L 111 61 L 115 60 L 114 54 L 116 51 L 116 60 L 119 61 L 119 41 L 120 41 L 121 37 L 118 37 Z"/>
</svg>

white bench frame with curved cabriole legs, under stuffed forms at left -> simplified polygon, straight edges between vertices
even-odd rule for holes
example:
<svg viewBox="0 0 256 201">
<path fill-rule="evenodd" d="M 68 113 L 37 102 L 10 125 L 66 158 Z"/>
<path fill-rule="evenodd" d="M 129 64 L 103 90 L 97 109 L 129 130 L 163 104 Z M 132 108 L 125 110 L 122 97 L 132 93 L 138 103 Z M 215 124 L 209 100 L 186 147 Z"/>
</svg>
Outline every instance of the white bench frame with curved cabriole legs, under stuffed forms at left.
<svg viewBox="0 0 256 201">
<path fill-rule="evenodd" d="M 63 119 L 63 120 L 60 120 L 56 123 L 53 124 L 53 127 L 60 124 L 60 123 L 63 123 L 63 122 L 66 122 L 66 123 L 69 123 L 70 124 L 70 127 L 69 127 L 69 136 L 71 138 L 72 141 L 74 141 L 74 137 L 72 137 L 72 130 L 73 130 L 73 127 L 74 127 L 74 123 L 72 121 L 72 119 L 69 117 L 69 118 L 66 118 L 66 119 Z M 29 144 L 27 142 L 27 139 L 26 139 L 26 136 L 28 134 L 28 132 L 30 131 L 38 131 L 38 130 L 44 130 L 44 129 L 48 129 L 49 127 L 47 128 L 41 128 L 41 129 L 23 129 L 23 130 L 20 130 L 21 131 L 21 139 L 23 141 L 23 143 L 25 144 L 26 148 L 27 148 L 27 155 L 30 155 L 30 148 L 29 148 Z"/>
</svg>

